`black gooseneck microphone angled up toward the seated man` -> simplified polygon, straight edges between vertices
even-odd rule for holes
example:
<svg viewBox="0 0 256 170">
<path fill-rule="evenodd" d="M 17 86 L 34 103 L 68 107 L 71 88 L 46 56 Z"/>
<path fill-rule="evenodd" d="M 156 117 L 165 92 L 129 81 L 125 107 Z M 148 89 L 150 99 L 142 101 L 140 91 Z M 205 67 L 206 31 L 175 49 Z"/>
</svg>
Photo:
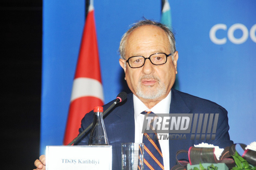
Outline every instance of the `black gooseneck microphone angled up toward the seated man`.
<svg viewBox="0 0 256 170">
<path fill-rule="evenodd" d="M 125 92 L 119 93 L 118 96 L 116 97 L 116 100 L 114 101 L 114 103 L 112 103 L 112 105 L 109 106 L 109 108 L 107 108 L 103 112 L 102 116 L 104 116 L 106 113 L 108 113 L 109 110 L 111 110 L 117 103 L 124 101 L 126 98 L 127 98 L 127 93 L 125 93 Z M 78 139 L 81 138 L 81 136 L 83 136 L 83 134 L 85 134 L 91 128 L 92 128 L 92 123 L 88 127 L 86 127 L 86 129 L 83 132 L 81 132 L 76 138 L 74 138 L 73 141 L 71 141 L 71 143 L 67 144 L 67 146 L 74 144 Z"/>
</svg>

